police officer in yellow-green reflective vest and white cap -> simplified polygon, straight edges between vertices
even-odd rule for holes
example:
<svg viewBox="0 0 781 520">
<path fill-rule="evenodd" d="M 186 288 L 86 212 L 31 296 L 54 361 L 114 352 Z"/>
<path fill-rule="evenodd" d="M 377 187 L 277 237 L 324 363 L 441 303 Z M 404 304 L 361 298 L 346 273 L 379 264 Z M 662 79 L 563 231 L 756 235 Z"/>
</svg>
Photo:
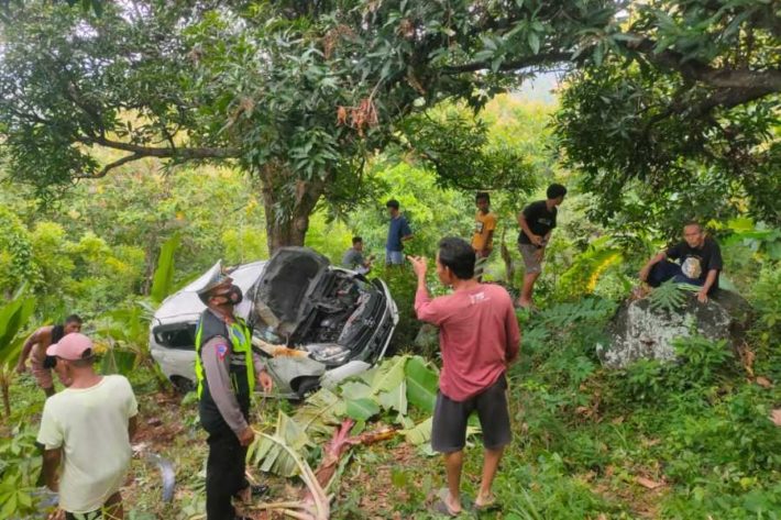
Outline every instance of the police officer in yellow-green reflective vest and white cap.
<svg viewBox="0 0 781 520">
<path fill-rule="evenodd" d="M 196 376 L 200 422 L 209 433 L 206 465 L 207 520 L 237 520 L 231 499 L 249 501 L 265 493 L 265 486 L 250 486 L 244 477 L 246 449 L 254 440 L 249 424 L 250 397 L 255 376 L 265 391 L 273 383 L 261 356 L 252 352 L 252 332 L 233 314 L 242 298 L 241 288 L 222 273 L 218 262 L 197 290 L 207 306 L 196 329 Z M 257 373 L 255 373 L 257 369 Z"/>
</svg>

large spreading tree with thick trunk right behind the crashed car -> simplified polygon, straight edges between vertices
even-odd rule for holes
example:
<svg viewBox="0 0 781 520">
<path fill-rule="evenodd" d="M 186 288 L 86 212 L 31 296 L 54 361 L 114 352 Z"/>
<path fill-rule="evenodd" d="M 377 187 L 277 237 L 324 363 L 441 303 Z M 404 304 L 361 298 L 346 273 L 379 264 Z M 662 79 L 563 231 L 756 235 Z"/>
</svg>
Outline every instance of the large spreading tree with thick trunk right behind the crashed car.
<svg viewBox="0 0 781 520">
<path fill-rule="evenodd" d="M 713 12 L 725 13 L 716 26 L 728 23 L 711 34 Z M 701 43 L 668 24 L 681 16 L 700 27 Z M 686 48 L 750 31 L 758 53 L 772 56 L 776 20 L 770 3 L 744 0 L 629 8 L 607 0 L 147 0 L 107 3 L 100 16 L 29 2 L 3 25 L 0 132 L 16 177 L 40 186 L 101 177 L 148 156 L 235 162 L 261 179 L 274 248 L 302 243 L 319 201 L 359 200 L 363 165 L 398 142 L 407 118 L 449 99 L 479 110 L 542 69 L 637 60 L 654 74 L 683 75 L 714 92 L 694 119 L 773 96 L 774 58 L 737 69 L 718 53 Z M 99 164 L 96 147 L 123 155 Z M 463 164 L 507 164 L 480 159 L 484 148 L 462 153 Z M 448 169 L 459 163 L 430 164 L 460 180 Z"/>
</svg>

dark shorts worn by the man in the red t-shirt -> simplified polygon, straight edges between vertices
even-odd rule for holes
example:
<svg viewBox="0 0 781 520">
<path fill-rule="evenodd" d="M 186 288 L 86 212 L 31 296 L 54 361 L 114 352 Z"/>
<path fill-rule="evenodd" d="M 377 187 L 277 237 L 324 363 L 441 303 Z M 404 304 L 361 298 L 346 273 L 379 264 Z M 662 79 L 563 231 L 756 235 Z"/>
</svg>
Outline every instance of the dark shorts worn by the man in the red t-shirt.
<svg viewBox="0 0 781 520">
<path fill-rule="evenodd" d="M 437 392 L 431 427 L 431 447 L 436 452 L 451 453 L 463 450 L 466 444 L 466 421 L 477 410 L 483 429 L 483 446 L 496 450 L 509 444 L 513 433 L 507 409 L 507 379 L 499 378 L 482 392 L 465 401 L 454 401 Z"/>
</svg>

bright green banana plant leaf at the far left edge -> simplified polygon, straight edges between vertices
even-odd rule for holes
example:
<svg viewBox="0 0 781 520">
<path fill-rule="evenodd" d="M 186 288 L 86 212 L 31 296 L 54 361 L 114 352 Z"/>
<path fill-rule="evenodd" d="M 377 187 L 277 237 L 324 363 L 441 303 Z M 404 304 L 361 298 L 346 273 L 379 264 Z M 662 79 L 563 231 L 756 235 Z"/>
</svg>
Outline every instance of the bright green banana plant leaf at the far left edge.
<svg viewBox="0 0 781 520">
<path fill-rule="evenodd" d="M 0 391 L 6 416 L 11 414 L 9 389 L 14 374 L 14 362 L 19 357 L 24 343 L 20 334 L 35 310 L 35 299 L 25 296 L 21 288 L 14 297 L 0 307 Z"/>
</svg>

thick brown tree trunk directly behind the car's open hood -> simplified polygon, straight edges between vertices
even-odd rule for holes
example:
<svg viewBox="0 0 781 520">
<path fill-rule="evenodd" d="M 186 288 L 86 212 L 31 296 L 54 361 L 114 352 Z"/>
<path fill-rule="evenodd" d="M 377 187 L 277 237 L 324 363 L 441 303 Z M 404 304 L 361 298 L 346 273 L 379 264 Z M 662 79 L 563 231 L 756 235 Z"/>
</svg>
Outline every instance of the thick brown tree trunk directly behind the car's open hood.
<svg viewBox="0 0 781 520">
<path fill-rule="evenodd" d="M 319 178 L 295 179 L 295 174 L 278 163 L 261 169 L 261 181 L 268 253 L 285 245 L 304 245 L 309 215 L 315 211 L 326 182 Z"/>
</svg>

